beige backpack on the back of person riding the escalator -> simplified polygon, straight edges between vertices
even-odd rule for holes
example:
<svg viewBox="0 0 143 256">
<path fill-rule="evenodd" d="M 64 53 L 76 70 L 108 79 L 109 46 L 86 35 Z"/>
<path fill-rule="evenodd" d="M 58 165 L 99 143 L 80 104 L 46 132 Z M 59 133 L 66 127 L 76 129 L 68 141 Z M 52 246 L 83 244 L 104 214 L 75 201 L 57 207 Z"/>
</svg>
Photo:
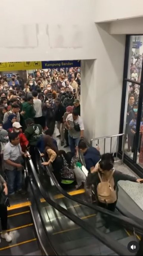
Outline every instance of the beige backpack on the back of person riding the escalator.
<svg viewBox="0 0 143 256">
<path fill-rule="evenodd" d="M 114 187 L 110 183 L 110 180 L 114 174 L 114 171 L 115 170 L 112 171 L 108 181 L 102 181 L 101 175 L 98 171 L 100 183 L 97 186 L 97 196 L 98 196 L 98 200 L 101 203 L 112 204 L 117 200 L 116 191 L 114 190 Z"/>
</svg>

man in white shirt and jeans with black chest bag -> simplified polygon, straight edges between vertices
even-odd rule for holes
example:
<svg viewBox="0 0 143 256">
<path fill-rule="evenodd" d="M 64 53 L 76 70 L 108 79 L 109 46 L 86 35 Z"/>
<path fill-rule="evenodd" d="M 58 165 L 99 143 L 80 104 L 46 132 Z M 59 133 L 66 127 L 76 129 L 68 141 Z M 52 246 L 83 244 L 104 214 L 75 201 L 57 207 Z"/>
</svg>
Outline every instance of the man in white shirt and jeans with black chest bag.
<svg viewBox="0 0 143 256">
<path fill-rule="evenodd" d="M 76 109 L 72 114 L 66 118 L 66 125 L 68 127 L 69 147 L 73 156 L 75 155 L 75 148 L 78 146 L 80 138 L 83 138 L 84 125 L 82 118 L 78 115 Z"/>
</svg>

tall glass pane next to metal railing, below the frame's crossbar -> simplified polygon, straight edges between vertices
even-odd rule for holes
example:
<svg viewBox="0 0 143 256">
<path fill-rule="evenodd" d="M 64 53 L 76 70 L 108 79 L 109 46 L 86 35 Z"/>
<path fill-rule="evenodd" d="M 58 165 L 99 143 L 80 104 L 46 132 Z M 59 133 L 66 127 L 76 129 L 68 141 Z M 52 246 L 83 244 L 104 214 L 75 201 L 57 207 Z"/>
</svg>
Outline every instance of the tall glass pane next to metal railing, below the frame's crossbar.
<svg viewBox="0 0 143 256">
<path fill-rule="evenodd" d="M 139 85 L 127 82 L 125 108 L 125 154 L 133 159 L 138 113 Z"/>
</svg>

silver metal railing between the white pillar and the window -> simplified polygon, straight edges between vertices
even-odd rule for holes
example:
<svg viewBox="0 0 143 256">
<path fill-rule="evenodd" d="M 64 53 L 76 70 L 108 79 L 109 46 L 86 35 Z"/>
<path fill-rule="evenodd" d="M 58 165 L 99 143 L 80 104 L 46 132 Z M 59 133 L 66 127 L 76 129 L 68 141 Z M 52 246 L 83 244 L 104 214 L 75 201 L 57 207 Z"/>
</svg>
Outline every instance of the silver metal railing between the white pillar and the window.
<svg viewBox="0 0 143 256">
<path fill-rule="evenodd" d="M 117 155 L 118 155 L 118 148 L 119 148 L 119 137 L 122 137 L 122 159 L 118 160 Z M 106 137 L 93 138 L 90 141 L 90 145 L 92 147 L 93 146 L 93 141 L 97 141 L 97 143 L 100 147 L 100 140 L 104 140 L 104 154 L 105 154 L 105 146 L 106 146 L 106 139 L 107 138 L 110 139 L 110 153 L 115 153 L 115 151 L 112 152 L 112 142 L 113 142 L 113 138 L 117 138 L 117 141 L 116 141 L 116 160 L 115 160 L 115 162 L 122 162 L 123 163 L 124 151 L 125 151 L 124 150 L 125 149 L 125 134 L 124 133 L 111 135 L 111 136 L 106 136 Z"/>
</svg>

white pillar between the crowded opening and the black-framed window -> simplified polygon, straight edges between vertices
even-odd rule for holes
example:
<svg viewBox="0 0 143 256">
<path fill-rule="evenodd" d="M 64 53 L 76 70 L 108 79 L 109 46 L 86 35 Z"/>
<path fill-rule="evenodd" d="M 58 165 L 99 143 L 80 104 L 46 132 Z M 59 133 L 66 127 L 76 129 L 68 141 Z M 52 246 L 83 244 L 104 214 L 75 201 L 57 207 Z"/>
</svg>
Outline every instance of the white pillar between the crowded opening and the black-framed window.
<svg viewBox="0 0 143 256">
<path fill-rule="evenodd" d="M 95 29 L 96 61 L 82 61 L 82 117 L 90 138 L 119 133 L 125 54 L 125 35 L 108 34 L 109 24 Z"/>
</svg>

